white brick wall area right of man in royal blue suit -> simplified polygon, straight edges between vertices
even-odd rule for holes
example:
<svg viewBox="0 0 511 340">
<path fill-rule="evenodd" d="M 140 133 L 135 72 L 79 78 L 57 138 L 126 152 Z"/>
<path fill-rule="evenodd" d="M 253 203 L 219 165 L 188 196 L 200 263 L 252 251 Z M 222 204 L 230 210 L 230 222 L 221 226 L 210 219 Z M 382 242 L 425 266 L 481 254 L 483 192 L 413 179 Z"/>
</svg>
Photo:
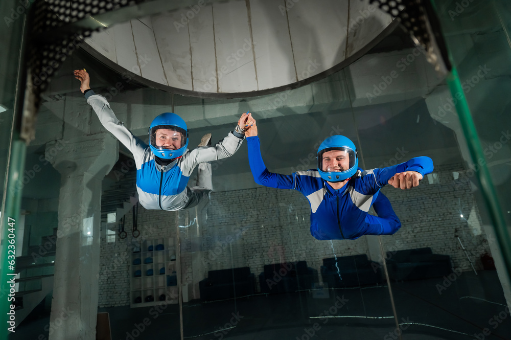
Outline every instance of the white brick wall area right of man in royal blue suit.
<svg viewBox="0 0 511 340">
<path fill-rule="evenodd" d="M 382 192 L 389 198 L 392 208 L 401 220 L 401 230 L 393 236 L 383 237 L 383 245 L 390 251 L 431 247 L 435 254 L 450 255 L 455 267 L 472 270 L 457 237 L 471 252 L 476 269 L 482 269 L 480 255 L 490 252 L 486 236 L 480 230 L 482 224 L 475 198 L 470 189 L 469 178 L 464 175 L 461 164 L 440 166 L 434 169 L 439 184 L 428 184 L 424 178 L 421 185 L 411 190 L 398 190 L 385 186 Z M 453 171 L 460 172 L 457 180 Z M 464 218 L 474 209 L 474 221 L 469 225 Z M 479 235 L 476 235 L 479 234 Z"/>
</svg>

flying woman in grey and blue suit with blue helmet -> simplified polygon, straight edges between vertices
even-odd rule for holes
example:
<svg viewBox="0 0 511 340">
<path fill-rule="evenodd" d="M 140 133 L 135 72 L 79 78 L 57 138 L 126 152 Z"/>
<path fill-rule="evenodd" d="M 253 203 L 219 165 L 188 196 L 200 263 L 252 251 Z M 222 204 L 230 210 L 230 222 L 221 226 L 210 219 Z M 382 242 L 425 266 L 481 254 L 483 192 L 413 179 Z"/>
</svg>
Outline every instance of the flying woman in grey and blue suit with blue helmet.
<svg viewBox="0 0 511 340">
<path fill-rule="evenodd" d="M 85 70 L 74 71 L 85 95 L 101 124 L 133 154 L 136 164 L 138 200 L 146 209 L 181 210 L 196 206 L 213 190 L 211 164 L 233 155 L 243 142 L 245 126 L 252 119 L 243 114 L 238 126 L 227 137 L 211 145 L 211 134 L 206 134 L 199 147 L 190 151 L 188 128 L 176 114 L 167 112 L 157 116 L 149 127 L 149 145 L 135 137 L 115 117 L 105 97 L 96 95 L 89 87 Z M 198 166 L 197 185 L 187 186 L 194 168 Z"/>
</svg>

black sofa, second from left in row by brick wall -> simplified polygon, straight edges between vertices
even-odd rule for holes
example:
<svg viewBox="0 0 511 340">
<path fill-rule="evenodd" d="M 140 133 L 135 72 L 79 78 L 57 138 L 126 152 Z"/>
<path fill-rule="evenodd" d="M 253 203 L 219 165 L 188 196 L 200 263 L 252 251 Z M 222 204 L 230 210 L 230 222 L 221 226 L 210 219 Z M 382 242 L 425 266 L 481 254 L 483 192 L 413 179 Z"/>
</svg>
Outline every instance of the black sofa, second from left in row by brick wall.
<svg viewBox="0 0 511 340">
<path fill-rule="evenodd" d="M 311 289 L 318 282 L 317 270 L 307 267 L 306 261 L 274 263 L 264 266 L 259 274 L 262 293 L 278 294 Z"/>
</svg>

